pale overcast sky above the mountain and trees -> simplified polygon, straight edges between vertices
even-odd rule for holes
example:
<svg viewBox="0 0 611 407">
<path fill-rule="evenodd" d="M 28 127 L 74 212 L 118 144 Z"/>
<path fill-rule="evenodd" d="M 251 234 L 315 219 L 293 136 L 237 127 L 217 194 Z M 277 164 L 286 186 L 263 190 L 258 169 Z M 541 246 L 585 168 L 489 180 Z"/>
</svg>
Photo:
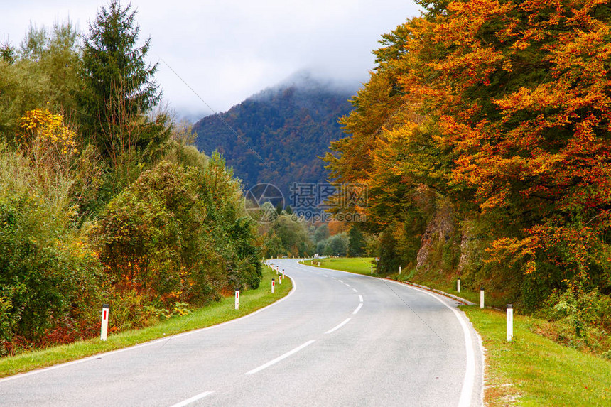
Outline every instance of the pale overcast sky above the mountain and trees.
<svg viewBox="0 0 611 407">
<path fill-rule="evenodd" d="M 99 6 L 92 0 L 0 0 L 0 39 L 19 45 L 30 23 L 53 26 L 67 18 L 86 32 Z M 121 4 L 129 4 L 121 1 Z M 132 0 L 141 40 L 151 37 L 151 62 L 166 102 L 179 116 L 217 112 L 310 70 L 358 87 L 374 67 L 377 41 L 406 18 L 401 0 Z M 172 72 L 161 60 L 173 68 Z M 177 76 L 178 74 L 178 76 Z"/>
</svg>

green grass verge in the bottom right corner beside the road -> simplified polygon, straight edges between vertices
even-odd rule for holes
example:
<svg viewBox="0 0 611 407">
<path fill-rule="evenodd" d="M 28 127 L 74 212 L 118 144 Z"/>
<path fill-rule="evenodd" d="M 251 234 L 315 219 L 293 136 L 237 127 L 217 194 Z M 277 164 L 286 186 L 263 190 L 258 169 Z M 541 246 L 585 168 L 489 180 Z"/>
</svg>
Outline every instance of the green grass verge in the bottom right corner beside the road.
<svg viewBox="0 0 611 407">
<path fill-rule="evenodd" d="M 486 348 L 485 398 L 490 406 L 611 406 L 611 362 L 531 332 L 541 320 L 463 307 Z"/>
</svg>

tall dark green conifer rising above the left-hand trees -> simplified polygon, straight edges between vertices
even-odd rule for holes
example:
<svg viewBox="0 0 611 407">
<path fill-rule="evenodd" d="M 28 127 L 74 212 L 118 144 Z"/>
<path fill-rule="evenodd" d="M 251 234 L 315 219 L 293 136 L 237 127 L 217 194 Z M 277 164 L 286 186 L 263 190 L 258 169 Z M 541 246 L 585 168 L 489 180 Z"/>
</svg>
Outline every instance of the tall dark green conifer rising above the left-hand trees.
<svg viewBox="0 0 611 407">
<path fill-rule="evenodd" d="M 151 38 L 136 45 L 140 27 L 135 15 L 131 4 L 122 7 L 112 0 L 90 22 L 82 45 L 84 131 L 115 165 L 126 153 L 129 158 L 134 152 L 150 152 L 167 138 L 165 117 L 146 119 L 161 101 L 161 91 L 154 80 L 158 64 L 146 62 Z"/>
</svg>

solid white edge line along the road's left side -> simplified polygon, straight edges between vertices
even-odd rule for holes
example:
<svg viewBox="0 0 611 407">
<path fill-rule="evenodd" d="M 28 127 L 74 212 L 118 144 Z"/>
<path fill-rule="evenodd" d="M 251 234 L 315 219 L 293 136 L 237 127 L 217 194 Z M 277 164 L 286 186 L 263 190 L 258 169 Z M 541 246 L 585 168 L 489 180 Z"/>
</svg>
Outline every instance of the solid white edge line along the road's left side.
<svg viewBox="0 0 611 407">
<path fill-rule="evenodd" d="M 286 277 L 291 278 L 288 275 L 286 275 Z M 150 346 L 151 344 L 158 344 L 158 342 L 163 342 L 164 340 L 165 341 L 169 341 L 171 339 L 175 339 L 175 338 L 178 338 L 178 337 L 184 337 L 184 336 L 187 336 L 187 335 L 193 335 L 195 333 L 203 332 L 203 331 L 206 331 L 206 330 L 212 330 L 212 329 L 215 329 L 217 327 L 222 327 L 224 325 L 232 324 L 232 323 L 237 322 L 239 320 L 244 320 L 246 318 L 250 318 L 253 315 L 256 315 L 258 313 L 263 312 L 267 308 L 273 307 L 274 305 L 278 305 L 283 300 L 286 300 L 286 298 L 288 298 L 291 295 L 293 295 L 293 293 L 295 293 L 295 291 L 297 289 L 297 283 L 296 283 L 295 280 L 293 280 L 293 278 L 291 278 L 291 281 L 293 282 L 293 288 L 291 288 L 291 291 L 289 291 L 286 296 L 284 296 L 283 298 L 280 298 L 279 300 L 275 301 L 274 303 L 266 305 L 264 308 L 259 308 L 259 310 L 256 310 L 253 313 L 249 313 L 247 315 L 244 315 L 243 317 L 235 318 L 234 320 L 229 320 L 229 321 L 221 322 L 220 324 L 217 324 L 217 325 L 211 325 L 210 327 L 199 328 L 197 330 L 191 330 L 191 331 L 188 331 L 188 332 L 181 332 L 179 334 L 172 335 L 172 336 L 169 336 L 169 337 L 161 337 L 161 338 L 158 338 L 156 340 L 151 340 L 149 342 L 144 342 L 142 344 L 136 344 L 136 345 L 131 346 L 131 347 L 124 347 L 122 349 L 112 350 L 110 352 L 94 354 L 92 356 L 88 356 L 88 357 L 85 357 L 83 359 L 72 360 L 70 362 L 65 362 L 65 363 L 62 363 L 62 364 L 55 364 L 54 366 L 44 367 L 43 369 L 36 369 L 36 370 L 26 371 L 25 373 L 14 374 L 13 376 L 6 376 L 6 377 L 3 377 L 3 378 L 0 379 L 0 383 L 2 383 L 4 381 L 11 381 L 11 380 L 14 380 L 14 379 L 21 379 L 23 377 L 32 376 L 34 374 L 43 373 L 45 371 L 60 369 L 61 367 L 68 367 L 68 366 L 70 366 L 72 364 L 88 362 L 88 361 L 93 360 L 93 359 L 101 359 L 102 357 L 110 356 L 112 354 L 117 354 L 117 353 L 121 353 L 121 352 L 127 352 L 129 350 L 138 349 L 140 347 L 147 347 L 147 346 Z"/>
</svg>

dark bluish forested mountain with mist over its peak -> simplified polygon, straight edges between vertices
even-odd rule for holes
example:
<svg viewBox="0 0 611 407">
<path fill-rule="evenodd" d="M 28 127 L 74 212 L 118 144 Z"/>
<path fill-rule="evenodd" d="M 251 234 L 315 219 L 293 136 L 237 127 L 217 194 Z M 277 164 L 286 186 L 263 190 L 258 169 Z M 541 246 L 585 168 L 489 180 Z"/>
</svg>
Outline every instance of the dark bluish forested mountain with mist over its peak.
<svg viewBox="0 0 611 407">
<path fill-rule="evenodd" d="M 327 179 L 318 156 L 330 141 L 342 137 L 337 119 L 350 112 L 348 99 L 355 90 L 302 72 L 221 113 L 222 120 L 216 115 L 201 119 L 193 126 L 198 134 L 195 143 L 207 154 L 220 151 L 234 175 L 244 180 L 245 189 L 272 183 L 288 197 L 293 182 Z"/>
</svg>

